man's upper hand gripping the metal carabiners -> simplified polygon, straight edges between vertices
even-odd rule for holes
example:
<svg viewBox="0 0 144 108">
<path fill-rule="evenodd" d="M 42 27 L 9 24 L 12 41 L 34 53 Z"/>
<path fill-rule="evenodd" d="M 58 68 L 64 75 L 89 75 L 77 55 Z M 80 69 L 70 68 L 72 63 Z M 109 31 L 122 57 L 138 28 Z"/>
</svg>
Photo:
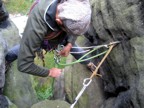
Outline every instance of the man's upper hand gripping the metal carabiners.
<svg viewBox="0 0 144 108">
<path fill-rule="evenodd" d="M 67 57 L 70 53 L 70 50 L 72 48 L 72 44 L 68 43 L 61 51 L 60 51 L 60 55 L 63 57 Z"/>
</svg>

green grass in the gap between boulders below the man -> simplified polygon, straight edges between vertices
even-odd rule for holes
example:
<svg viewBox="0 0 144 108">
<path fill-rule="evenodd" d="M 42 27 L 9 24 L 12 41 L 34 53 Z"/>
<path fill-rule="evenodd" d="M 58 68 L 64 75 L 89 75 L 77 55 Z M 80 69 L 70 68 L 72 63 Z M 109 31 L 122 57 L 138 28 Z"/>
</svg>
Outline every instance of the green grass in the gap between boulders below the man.
<svg viewBox="0 0 144 108">
<path fill-rule="evenodd" d="M 54 54 L 47 53 L 44 56 L 44 61 L 45 61 L 45 67 L 47 68 L 52 68 L 56 67 L 56 63 L 54 62 Z M 65 63 L 66 58 L 63 58 L 61 62 Z M 41 59 L 38 57 L 35 58 L 35 63 L 39 66 L 43 65 L 43 62 Z M 63 66 L 58 67 L 58 68 L 64 68 Z M 40 77 L 34 77 L 34 88 L 36 90 L 36 94 L 38 96 L 39 100 L 44 100 L 44 99 L 51 99 L 53 97 L 53 83 L 54 79 L 51 77 L 47 78 L 40 78 Z"/>
</svg>

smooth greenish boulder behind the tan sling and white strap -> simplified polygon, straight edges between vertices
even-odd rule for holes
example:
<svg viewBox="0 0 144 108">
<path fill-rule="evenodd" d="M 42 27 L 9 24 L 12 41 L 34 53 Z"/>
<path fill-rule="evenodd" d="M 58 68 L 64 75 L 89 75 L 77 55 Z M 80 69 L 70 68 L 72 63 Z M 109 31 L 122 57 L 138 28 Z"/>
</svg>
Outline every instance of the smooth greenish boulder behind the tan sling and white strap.
<svg viewBox="0 0 144 108">
<path fill-rule="evenodd" d="M 90 44 L 86 38 L 78 38 L 77 43 L 84 46 L 84 44 Z M 85 41 L 85 43 L 84 43 Z M 71 63 L 75 59 L 70 56 L 67 63 Z M 95 61 L 93 61 L 95 62 Z M 91 76 L 92 72 L 89 71 L 85 65 L 79 63 L 68 66 L 65 68 L 65 99 L 69 103 L 73 103 L 76 96 L 82 90 L 83 81 Z M 102 89 L 101 78 L 95 77 L 90 85 L 83 92 L 75 108 L 100 108 L 104 101 L 104 92 Z"/>
</svg>

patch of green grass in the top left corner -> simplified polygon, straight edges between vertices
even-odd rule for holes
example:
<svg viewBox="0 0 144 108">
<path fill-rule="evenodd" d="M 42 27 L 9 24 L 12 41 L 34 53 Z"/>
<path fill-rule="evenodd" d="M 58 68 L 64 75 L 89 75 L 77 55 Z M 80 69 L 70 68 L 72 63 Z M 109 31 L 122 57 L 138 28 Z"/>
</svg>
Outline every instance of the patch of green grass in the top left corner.
<svg viewBox="0 0 144 108">
<path fill-rule="evenodd" d="M 5 6 L 9 13 L 27 14 L 34 0 L 5 0 Z"/>
</svg>

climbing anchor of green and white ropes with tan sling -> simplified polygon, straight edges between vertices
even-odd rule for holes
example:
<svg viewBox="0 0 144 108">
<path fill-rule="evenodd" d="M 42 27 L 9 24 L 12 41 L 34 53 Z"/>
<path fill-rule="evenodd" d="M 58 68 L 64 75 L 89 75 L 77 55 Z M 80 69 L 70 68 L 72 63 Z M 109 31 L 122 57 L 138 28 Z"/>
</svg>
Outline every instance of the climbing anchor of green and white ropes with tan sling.
<svg viewBox="0 0 144 108">
<path fill-rule="evenodd" d="M 110 42 L 109 44 L 105 44 L 105 45 L 100 45 L 100 46 L 90 46 L 90 47 L 81 47 L 83 49 L 93 49 L 92 51 L 89 51 L 88 53 L 86 53 L 83 57 L 81 57 L 80 59 L 76 60 L 75 62 L 72 62 L 72 63 L 69 63 L 69 64 L 61 64 L 60 63 L 60 55 L 57 55 L 57 53 L 61 50 L 60 48 L 58 50 L 56 50 L 56 53 L 55 53 L 55 62 L 58 64 L 58 65 L 64 65 L 64 66 L 68 66 L 68 65 L 72 65 L 72 64 L 75 64 L 75 63 L 79 63 L 79 62 L 83 62 L 83 61 L 86 61 L 86 60 L 89 60 L 89 59 L 92 59 L 92 58 L 95 58 L 95 57 L 98 57 L 100 55 L 104 55 L 104 57 L 102 58 L 102 60 L 100 61 L 100 63 L 98 64 L 98 66 L 96 67 L 96 69 L 93 71 L 92 75 L 90 76 L 90 78 L 85 78 L 84 81 L 83 81 L 83 88 L 81 89 L 81 91 L 78 93 L 78 95 L 76 96 L 75 100 L 74 100 L 74 103 L 70 106 L 70 108 L 74 108 L 74 106 L 76 105 L 76 103 L 78 102 L 79 98 L 81 97 L 81 95 L 84 93 L 85 89 L 91 84 L 92 82 L 92 78 L 94 76 L 99 76 L 101 77 L 100 74 L 98 74 L 98 70 L 100 68 L 100 66 L 102 65 L 102 63 L 105 61 L 105 59 L 107 58 L 107 56 L 109 55 L 109 53 L 112 51 L 113 47 L 120 43 L 119 41 L 115 41 L 115 42 Z M 63 47 L 63 46 L 62 46 Z M 93 57 L 90 57 L 88 59 L 84 59 L 83 58 L 85 56 L 87 56 L 88 54 L 94 52 L 95 50 L 99 49 L 99 48 L 102 48 L 102 47 L 106 47 L 106 48 L 109 48 L 107 51 L 104 51 L 100 54 L 97 54 Z M 77 48 L 77 47 L 73 47 L 73 48 Z"/>
</svg>

